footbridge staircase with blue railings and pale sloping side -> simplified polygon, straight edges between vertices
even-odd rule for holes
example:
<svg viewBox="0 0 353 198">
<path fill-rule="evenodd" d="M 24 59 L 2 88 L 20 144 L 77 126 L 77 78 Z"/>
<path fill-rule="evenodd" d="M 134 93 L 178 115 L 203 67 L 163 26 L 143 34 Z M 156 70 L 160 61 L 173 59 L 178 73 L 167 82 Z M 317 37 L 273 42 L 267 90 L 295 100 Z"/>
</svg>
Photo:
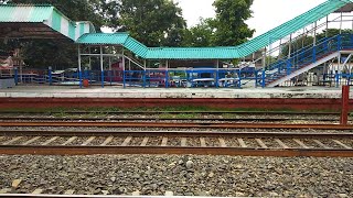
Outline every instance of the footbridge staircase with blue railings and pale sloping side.
<svg viewBox="0 0 353 198">
<path fill-rule="evenodd" d="M 342 52 L 353 53 L 353 34 L 324 37 L 318 41 L 315 45 L 296 51 L 287 59 L 270 64 L 258 74 L 258 84 L 261 87 L 276 87 L 333 58 L 338 58 Z"/>
</svg>

